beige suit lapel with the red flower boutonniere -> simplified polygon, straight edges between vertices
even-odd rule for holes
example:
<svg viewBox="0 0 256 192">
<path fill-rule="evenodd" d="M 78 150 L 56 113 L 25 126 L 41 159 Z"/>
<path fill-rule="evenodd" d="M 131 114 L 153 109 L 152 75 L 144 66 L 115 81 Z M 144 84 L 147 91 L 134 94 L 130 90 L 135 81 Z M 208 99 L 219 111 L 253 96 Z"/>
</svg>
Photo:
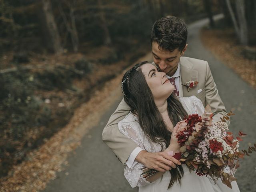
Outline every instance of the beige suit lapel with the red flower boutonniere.
<svg viewBox="0 0 256 192">
<path fill-rule="evenodd" d="M 189 80 L 194 80 L 194 81 L 198 81 L 198 71 L 193 70 L 193 64 L 191 62 L 189 62 L 186 57 L 181 57 L 180 58 L 180 90 L 182 90 L 183 92 L 183 97 L 189 97 L 189 96 L 197 96 L 197 86 L 193 87 L 192 89 L 187 90 L 187 88 L 185 86 L 183 86 L 182 84 L 184 84 L 185 82 L 188 82 Z M 180 95 L 181 96 L 181 95 Z"/>
</svg>

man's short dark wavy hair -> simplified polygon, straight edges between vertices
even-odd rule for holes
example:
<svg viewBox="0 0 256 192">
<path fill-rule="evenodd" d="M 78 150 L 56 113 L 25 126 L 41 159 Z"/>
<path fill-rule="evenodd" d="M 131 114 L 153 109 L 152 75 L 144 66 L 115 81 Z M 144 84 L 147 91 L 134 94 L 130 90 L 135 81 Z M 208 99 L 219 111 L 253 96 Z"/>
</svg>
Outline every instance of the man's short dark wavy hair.
<svg viewBox="0 0 256 192">
<path fill-rule="evenodd" d="M 165 16 L 157 20 L 151 31 L 151 45 L 155 41 L 159 49 L 182 51 L 187 43 L 187 26 L 184 21 L 174 16 Z"/>
</svg>

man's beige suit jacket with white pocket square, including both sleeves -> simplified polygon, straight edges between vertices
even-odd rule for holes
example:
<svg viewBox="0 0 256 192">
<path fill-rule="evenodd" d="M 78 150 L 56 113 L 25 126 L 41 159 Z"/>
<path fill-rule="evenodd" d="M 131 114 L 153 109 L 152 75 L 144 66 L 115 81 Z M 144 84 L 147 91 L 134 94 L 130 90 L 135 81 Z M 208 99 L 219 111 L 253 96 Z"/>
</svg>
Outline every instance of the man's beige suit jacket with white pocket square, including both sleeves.
<svg viewBox="0 0 256 192">
<path fill-rule="evenodd" d="M 182 84 L 189 80 L 198 81 L 198 85 L 188 92 L 187 88 L 182 86 Z M 202 89 L 202 91 L 198 93 L 200 89 Z M 208 62 L 194 58 L 181 57 L 179 91 L 180 96 L 189 97 L 194 95 L 202 101 L 204 106 L 210 104 L 214 114 L 214 121 L 219 121 L 220 117 L 226 115 L 225 106 L 218 94 Z M 118 129 L 118 122 L 129 112 L 129 106 L 124 102 L 124 99 L 122 99 L 116 111 L 110 116 L 102 132 L 102 140 L 116 154 L 116 157 L 122 164 L 126 162 L 132 151 L 138 147 Z"/>
</svg>

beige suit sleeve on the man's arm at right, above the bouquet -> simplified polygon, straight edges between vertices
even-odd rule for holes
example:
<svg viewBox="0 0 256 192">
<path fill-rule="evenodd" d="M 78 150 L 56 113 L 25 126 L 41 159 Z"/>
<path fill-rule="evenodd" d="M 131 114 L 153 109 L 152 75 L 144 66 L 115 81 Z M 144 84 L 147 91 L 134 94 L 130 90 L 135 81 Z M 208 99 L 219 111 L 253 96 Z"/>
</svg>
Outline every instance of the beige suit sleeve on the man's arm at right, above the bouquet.
<svg viewBox="0 0 256 192">
<path fill-rule="evenodd" d="M 218 93 L 208 62 L 206 62 L 205 97 L 206 104 L 211 106 L 212 113 L 214 114 L 213 121 L 220 121 L 220 118 L 225 116 L 227 112 Z M 229 121 L 227 121 L 227 124 L 229 126 Z"/>
</svg>

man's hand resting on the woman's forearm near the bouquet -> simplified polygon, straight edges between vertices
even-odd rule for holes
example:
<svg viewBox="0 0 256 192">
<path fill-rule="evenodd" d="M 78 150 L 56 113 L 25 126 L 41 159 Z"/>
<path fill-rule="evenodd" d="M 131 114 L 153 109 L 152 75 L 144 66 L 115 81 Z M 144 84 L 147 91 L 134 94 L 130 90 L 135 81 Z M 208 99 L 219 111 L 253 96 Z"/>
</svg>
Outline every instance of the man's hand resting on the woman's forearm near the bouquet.
<svg viewBox="0 0 256 192">
<path fill-rule="evenodd" d="M 135 158 L 137 162 L 144 164 L 146 168 L 166 172 L 171 168 L 181 165 L 180 161 L 167 154 L 167 152 L 150 153 L 142 150 Z"/>
</svg>

